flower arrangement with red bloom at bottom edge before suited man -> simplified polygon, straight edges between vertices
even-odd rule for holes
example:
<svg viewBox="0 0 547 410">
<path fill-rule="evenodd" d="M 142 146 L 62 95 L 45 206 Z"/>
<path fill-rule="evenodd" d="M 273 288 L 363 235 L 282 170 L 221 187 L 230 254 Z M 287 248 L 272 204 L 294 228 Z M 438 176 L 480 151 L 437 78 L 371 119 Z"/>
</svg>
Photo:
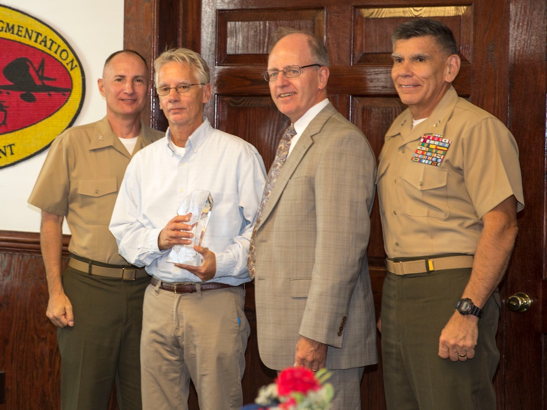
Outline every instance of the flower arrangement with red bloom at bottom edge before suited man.
<svg viewBox="0 0 547 410">
<path fill-rule="evenodd" d="M 264 410 L 329 410 L 334 389 L 325 383 L 327 369 L 317 373 L 304 367 L 288 367 L 275 383 L 263 386 L 254 401 Z"/>
</svg>

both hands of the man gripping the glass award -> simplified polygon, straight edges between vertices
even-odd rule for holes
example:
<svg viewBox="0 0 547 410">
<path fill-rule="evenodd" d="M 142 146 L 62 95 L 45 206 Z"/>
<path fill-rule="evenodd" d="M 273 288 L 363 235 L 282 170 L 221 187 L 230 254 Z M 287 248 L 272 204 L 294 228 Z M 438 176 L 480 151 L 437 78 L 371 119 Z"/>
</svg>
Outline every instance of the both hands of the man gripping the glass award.
<svg viewBox="0 0 547 410">
<path fill-rule="evenodd" d="M 167 222 L 167 225 L 158 236 L 158 248 L 160 250 L 171 249 L 175 245 L 191 245 L 191 239 L 194 238 L 194 233 L 191 232 L 193 226 L 186 223 L 190 221 L 190 217 L 191 214 L 177 215 Z M 195 274 L 202 282 L 213 279 L 217 273 L 217 258 L 214 252 L 198 245 L 194 245 L 193 248 L 203 256 L 201 266 L 183 265 L 182 263 L 175 263 L 174 266 Z"/>
</svg>

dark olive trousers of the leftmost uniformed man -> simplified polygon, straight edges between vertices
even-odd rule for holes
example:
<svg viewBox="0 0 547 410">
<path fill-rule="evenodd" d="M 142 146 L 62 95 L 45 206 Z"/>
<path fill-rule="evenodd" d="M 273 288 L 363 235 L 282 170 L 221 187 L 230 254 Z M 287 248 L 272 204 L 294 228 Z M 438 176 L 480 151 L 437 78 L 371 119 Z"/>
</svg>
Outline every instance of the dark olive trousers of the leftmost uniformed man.
<svg viewBox="0 0 547 410">
<path fill-rule="evenodd" d="M 103 278 L 68 267 L 62 282 L 74 327 L 57 328 L 61 409 L 106 410 L 114 381 L 120 410 L 141 409 L 142 301 L 150 278 Z"/>
</svg>

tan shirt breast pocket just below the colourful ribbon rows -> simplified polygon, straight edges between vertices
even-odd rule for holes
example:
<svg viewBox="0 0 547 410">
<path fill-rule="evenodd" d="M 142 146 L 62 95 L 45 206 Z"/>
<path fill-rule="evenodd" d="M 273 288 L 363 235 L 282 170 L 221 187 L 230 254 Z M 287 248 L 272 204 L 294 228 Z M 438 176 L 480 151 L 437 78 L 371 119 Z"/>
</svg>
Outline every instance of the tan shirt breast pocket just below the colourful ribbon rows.
<svg viewBox="0 0 547 410">
<path fill-rule="evenodd" d="M 406 213 L 411 216 L 447 218 L 448 171 L 432 165 L 410 163 L 405 169 Z"/>
</svg>

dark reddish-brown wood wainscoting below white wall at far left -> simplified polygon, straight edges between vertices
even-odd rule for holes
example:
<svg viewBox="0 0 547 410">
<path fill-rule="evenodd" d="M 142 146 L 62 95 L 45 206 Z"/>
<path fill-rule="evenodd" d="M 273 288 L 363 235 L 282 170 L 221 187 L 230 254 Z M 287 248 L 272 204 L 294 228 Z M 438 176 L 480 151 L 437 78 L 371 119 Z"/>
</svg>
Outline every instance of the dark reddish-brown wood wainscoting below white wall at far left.
<svg viewBox="0 0 547 410">
<path fill-rule="evenodd" d="M 68 237 L 63 237 L 65 248 Z M 9 410 L 59 408 L 60 356 L 45 316 L 48 291 L 37 233 L 0 231 L 0 371 Z"/>
</svg>

